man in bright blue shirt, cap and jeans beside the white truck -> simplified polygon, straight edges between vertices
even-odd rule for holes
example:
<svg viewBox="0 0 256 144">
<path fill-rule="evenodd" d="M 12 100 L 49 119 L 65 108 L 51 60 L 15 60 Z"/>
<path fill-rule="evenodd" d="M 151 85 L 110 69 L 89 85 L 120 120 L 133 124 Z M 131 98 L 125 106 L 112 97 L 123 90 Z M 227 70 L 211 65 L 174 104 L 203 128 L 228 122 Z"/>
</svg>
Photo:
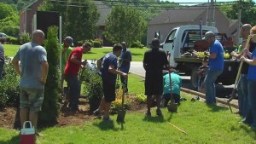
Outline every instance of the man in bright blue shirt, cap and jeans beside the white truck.
<svg viewBox="0 0 256 144">
<path fill-rule="evenodd" d="M 206 103 L 216 104 L 215 81 L 224 69 L 224 49 L 222 44 L 216 40 L 213 32 L 206 32 L 203 39 L 211 45 L 210 53 L 207 54 L 209 57 L 209 69 L 207 72 L 207 77 L 204 80 L 206 89 Z"/>
</svg>

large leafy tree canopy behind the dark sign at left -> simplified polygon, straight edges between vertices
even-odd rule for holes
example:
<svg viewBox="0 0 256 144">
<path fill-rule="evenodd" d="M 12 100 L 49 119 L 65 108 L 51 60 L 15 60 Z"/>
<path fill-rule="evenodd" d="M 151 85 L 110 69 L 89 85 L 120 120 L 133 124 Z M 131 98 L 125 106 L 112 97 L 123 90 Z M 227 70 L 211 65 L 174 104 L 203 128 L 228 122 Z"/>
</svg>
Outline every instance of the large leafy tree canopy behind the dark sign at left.
<svg viewBox="0 0 256 144">
<path fill-rule="evenodd" d="M 75 41 L 90 39 L 96 32 L 99 14 L 96 4 L 90 0 L 49 1 L 45 0 L 40 10 L 57 11 L 62 17 L 62 32 Z"/>
</svg>

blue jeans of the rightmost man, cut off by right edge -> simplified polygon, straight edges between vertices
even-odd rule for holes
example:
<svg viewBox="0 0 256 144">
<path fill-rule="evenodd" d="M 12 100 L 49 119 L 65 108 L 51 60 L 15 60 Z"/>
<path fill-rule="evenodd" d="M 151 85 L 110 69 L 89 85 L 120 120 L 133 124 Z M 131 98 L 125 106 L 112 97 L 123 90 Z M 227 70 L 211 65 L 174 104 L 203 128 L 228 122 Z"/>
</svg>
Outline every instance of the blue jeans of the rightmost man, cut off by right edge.
<svg viewBox="0 0 256 144">
<path fill-rule="evenodd" d="M 253 128 L 256 128 L 256 81 L 248 80 L 247 88 L 249 110 L 247 111 L 247 116 L 244 121 L 247 124 L 251 124 Z"/>
</svg>

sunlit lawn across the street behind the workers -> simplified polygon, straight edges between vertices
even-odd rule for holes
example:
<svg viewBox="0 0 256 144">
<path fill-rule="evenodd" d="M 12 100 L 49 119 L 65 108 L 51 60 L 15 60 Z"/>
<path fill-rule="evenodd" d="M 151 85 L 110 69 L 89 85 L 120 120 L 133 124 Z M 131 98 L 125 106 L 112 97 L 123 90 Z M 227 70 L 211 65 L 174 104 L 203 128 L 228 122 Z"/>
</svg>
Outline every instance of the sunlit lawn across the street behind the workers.
<svg viewBox="0 0 256 144">
<path fill-rule="evenodd" d="M 3 48 L 4 48 L 5 55 L 14 56 L 17 50 L 20 48 L 20 45 L 3 44 Z M 131 50 L 133 61 L 143 61 L 144 53 L 146 50 L 148 50 L 148 48 L 143 48 L 143 49 L 132 48 L 130 50 Z M 93 48 L 91 49 L 90 53 L 83 55 L 83 59 L 97 60 L 109 52 L 112 52 L 112 48 L 104 48 L 104 49 Z"/>
</svg>

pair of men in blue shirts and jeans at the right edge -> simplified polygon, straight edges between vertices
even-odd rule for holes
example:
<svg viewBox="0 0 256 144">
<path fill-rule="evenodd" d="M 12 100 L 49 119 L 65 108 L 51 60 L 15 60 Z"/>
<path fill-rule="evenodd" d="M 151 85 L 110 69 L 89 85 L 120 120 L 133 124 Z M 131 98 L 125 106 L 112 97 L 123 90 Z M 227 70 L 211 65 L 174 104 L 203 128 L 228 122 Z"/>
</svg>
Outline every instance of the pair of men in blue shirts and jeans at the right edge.
<svg viewBox="0 0 256 144">
<path fill-rule="evenodd" d="M 245 24 L 241 26 L 241 53 L 232 52 L 231 55 L 243 61 L 241 67 L 241 77 L 237 85 L 239 111 L 242 123 L 249 124 L 256 129 L 256 26 Z M 246 45 L 247 37 L 251 36 L 251 40 Z M 247 47 L 246 47 L 247 46 Z"/>
</svg>

